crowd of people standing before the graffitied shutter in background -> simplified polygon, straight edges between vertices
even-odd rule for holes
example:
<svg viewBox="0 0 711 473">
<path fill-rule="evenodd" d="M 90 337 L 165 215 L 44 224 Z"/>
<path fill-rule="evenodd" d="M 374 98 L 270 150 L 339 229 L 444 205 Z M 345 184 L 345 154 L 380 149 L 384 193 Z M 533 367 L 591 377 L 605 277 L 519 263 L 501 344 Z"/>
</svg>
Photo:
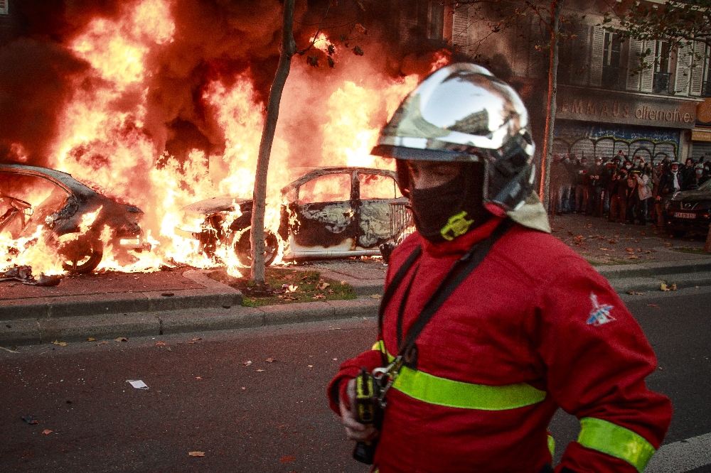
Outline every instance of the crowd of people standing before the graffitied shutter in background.
<svg viewBox="0 0 711 473">
<path fill-rule="evenodd" d="M 606 217 L 610 222 L 663 227 L 663 206 L 681 190 L 711 179 L 711 159 L 689 158 L 685 165 L 664 158 L 648 163 L 622 151 L 589 160 L 573 153 L 555 155 L 550 165 L 550 211 Z"/>
</svg>

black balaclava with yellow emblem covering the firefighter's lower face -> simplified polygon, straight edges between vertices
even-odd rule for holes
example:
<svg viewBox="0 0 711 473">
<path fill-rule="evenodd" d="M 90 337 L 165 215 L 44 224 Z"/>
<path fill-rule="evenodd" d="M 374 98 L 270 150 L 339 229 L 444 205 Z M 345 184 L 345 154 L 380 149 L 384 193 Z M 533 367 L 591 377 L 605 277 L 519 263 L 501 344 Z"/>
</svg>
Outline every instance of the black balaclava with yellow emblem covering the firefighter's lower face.
<svg viewBox="0 0 711 473">
<path fill-rule="evenodd" d="M 479 227 L 490 217 L 483 207 L 484 167 L 463 163 L 459 175 L 448 183 L 414 189 L 410 204 L 417 231 L 432 243 L 449 241 Z"/>
</svg>

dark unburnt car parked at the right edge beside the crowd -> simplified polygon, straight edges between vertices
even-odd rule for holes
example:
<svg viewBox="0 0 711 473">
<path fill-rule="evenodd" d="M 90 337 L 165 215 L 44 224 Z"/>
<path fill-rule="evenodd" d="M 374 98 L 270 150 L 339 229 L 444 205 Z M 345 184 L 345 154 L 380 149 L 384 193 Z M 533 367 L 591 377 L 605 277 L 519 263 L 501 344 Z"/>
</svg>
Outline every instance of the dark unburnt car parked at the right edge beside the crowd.
<svg viewBox="0 0 711 473">
<path fill-rule="evenodd" d="M 665 205 L 665 223 L 675 237 L 707 234 L 711 224 L 711 180 L 694 190 L 677 192 Z"/>
</svg>

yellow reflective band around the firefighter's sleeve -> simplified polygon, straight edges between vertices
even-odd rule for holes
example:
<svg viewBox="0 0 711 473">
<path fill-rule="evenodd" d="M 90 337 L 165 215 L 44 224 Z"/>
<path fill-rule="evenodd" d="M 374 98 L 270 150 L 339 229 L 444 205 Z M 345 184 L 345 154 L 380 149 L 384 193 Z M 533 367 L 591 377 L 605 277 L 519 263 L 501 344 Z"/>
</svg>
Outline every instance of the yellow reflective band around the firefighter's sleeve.
<svg viewBox="0 0 711 473">
<path fill-rule="evenodd" d="M 578 435 L 580 445 L 625 460 L 633 464 L 640 473 L 656 452 L 654 447 L 638 433 L 607 420 L 584 417 L 580 419 L 580 425 L 581 430 Z"/>
</svg>

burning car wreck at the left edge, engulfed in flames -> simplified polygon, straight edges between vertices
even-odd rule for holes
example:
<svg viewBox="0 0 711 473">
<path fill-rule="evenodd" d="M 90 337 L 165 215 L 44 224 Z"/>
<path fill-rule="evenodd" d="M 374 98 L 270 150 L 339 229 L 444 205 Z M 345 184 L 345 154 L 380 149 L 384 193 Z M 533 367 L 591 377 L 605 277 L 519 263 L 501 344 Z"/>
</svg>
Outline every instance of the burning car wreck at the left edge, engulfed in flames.
<svg viewBox="0 0 711 473">
<path fill-rule="evenodd" d="M 62 258 L 70 273 L 90 273 L 104 252 L 102 232 L 121 256 L 150 250 L 139 226 L 143 211 L 124 205 L 58 170 L 0 163 L 0 232 L 12 239 L 41 238 Z"/>
</svg>

